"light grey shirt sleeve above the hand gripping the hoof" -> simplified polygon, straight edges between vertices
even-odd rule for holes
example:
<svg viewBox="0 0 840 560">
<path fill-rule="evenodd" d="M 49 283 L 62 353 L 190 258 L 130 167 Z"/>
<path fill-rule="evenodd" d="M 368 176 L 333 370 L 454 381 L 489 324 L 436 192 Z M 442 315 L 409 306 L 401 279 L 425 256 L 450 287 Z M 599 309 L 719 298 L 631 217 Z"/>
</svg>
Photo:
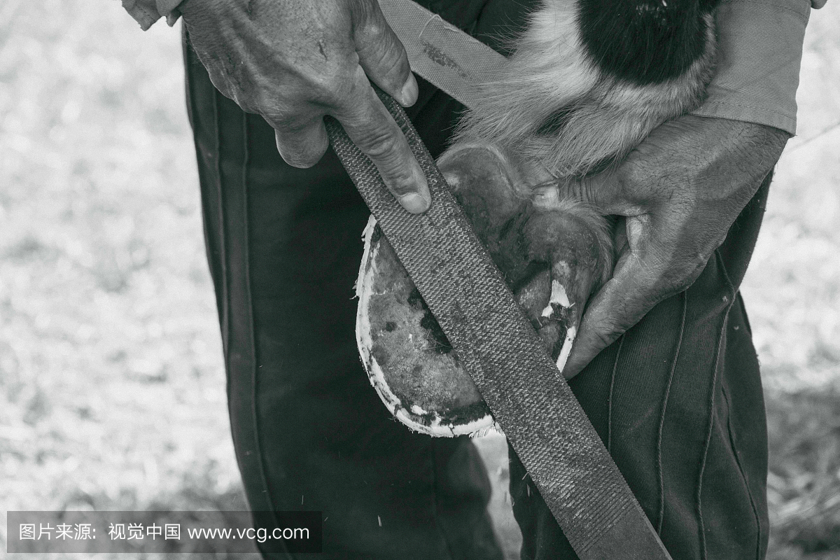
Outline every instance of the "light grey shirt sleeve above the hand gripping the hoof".
<svg viewBox="0 0 840 560">
<path fill-rule="evenodd" d="M 819 2 L 819 0 L 816 0 Z M 715 13 L 717 74 L 692 114 L 796 133 L 808 0 L 725 0 Z"/>
</svg>

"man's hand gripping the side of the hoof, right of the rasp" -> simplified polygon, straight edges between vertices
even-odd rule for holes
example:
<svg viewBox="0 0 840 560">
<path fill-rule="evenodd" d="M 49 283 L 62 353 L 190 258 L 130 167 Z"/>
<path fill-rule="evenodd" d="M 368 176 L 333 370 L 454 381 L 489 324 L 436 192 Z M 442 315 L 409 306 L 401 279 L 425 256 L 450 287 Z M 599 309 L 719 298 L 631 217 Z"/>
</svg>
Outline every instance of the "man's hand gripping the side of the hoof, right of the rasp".
<svg viewBox="0 0 840 560">
<path fill-rule="evenodd" d="M 656 128 L 618 170 L 560 187 L 560 196 L 623 217 L 616 268 L 586 307 L 566 379 L 696 280 L 787 138 L 759 124 L 688 115 Z"/>
</svg>

